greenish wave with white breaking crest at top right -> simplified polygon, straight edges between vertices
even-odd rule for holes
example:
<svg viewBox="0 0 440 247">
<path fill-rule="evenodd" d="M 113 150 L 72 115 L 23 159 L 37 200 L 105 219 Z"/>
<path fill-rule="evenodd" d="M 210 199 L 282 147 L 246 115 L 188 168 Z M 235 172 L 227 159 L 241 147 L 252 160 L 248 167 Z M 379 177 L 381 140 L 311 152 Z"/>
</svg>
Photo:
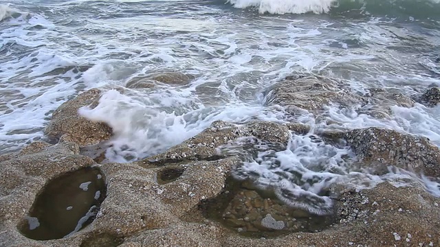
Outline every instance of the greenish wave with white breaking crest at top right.
<svg viewBox="0 0 440 247">
<path fill-rule="evenodd" d="M 227 0 L 234 8 L 257 8 L 260 13 L 315 14 L 333 10 L 362 10 L 395 15 L 396 12 L 415 16 L 440 16 L 440 0 Z M 339 10 L 339 11 L 338 11 Z"/>
</svg>

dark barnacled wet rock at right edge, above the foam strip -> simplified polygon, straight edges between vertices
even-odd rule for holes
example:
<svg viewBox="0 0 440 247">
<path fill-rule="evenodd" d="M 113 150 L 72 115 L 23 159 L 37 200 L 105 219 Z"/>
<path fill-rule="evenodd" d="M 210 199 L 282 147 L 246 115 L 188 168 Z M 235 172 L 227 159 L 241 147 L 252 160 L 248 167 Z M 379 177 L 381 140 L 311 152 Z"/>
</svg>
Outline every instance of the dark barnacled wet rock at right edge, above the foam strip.
<svg viewBox="0 0 440 247">
<path fill-rule="evenodd" d="M 363 128 L 347 132 L 344 138 L 364 167 L 384 170 L 387 165 L 395 165 L 428 176 L 440 176 L 440 150 L 424 137 Z"/>
</svg>

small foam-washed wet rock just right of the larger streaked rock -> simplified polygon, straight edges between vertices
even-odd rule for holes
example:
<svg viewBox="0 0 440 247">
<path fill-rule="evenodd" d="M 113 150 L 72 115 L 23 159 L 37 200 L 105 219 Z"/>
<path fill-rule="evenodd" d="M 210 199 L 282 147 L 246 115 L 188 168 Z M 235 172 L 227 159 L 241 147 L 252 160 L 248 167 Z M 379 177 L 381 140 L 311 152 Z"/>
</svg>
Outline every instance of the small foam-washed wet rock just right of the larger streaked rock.
<svg viewBox="0 0 440 247">
<path fill-rule="evenodd" d="M 410 108 L 415 101 L 402 94 L 398 89 L 370 89 L 369 97 L 365 97 L 366 105 L 359 110 L 359 114 L 368 114 L 378 119 L 389 119 L 393 114 L 392 106 Z"/>
</svg>

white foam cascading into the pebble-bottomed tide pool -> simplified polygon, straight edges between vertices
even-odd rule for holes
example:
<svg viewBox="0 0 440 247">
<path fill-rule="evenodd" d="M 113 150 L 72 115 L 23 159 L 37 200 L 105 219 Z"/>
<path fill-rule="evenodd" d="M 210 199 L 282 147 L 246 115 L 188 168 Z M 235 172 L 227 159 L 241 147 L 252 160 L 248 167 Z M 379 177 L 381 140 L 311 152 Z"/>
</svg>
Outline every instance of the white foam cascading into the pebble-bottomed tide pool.
<svg viewBox="0 0 440 247">
<path fill-rule="evenodd" d="M 259 142 L 256 145 L 263 147 Z M 351 172 L 344 156 L 353 158 L 354 154 L 349 148 L 326 144 L 313 134 L 295 135 L 285 150 L 261 150 L 232 174 L 240 180 L 253 180 L 260 189 L 274 191 L 291 207 L 325 215 L 333 202 L 318 194 Z"/>
</svg>

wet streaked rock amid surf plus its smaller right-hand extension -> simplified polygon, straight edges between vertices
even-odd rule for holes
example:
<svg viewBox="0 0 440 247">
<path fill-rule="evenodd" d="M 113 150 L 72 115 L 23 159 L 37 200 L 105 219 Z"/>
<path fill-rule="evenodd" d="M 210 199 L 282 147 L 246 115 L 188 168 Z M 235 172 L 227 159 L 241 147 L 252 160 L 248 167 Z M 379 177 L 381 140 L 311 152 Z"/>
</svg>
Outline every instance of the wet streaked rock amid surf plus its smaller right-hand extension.
<svg viewBox="0 0 440 247">
<path fill-rule="evenodd" d="M 265 104 L 284 106 L 293 115 L 308 110 L 318 117 L 325 112 L 324 106 L 335 104 L 340 108 L 358 108 L 358 114 L 389 119 L 392 106 L 409 108 L 415 101 L 397 89 L 369 89 L 367 95 L 360 96 L 351 91 L 349 84 L 308 75 L 290 76 L 270 86 L 265 91 Z"/>
</svg>

